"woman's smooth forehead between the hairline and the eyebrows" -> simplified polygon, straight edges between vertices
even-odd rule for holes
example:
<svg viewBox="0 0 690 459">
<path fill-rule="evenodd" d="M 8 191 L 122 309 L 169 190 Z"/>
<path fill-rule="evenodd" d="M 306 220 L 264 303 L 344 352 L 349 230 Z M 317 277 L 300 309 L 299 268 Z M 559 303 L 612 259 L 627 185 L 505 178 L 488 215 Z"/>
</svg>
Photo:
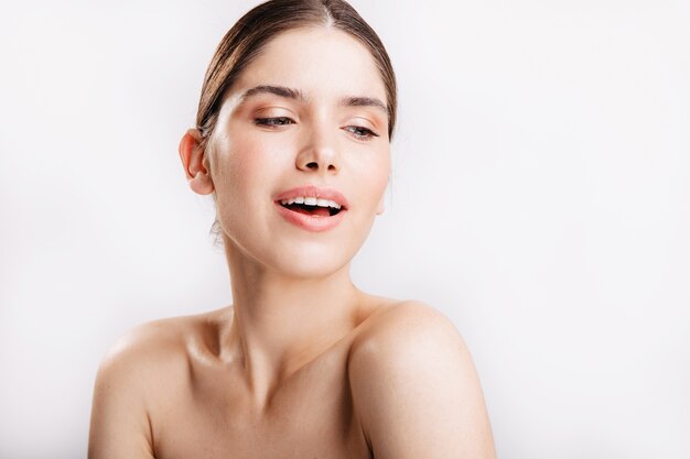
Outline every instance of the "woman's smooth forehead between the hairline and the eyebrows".
<svg viewBox="0 0 690 459">
<path fill-rule="evenodd" d="M 386 100 L 371 53 L 333 28 L 282 32 L 244 69 L 231 92 L 266 84 L 297 88 L 309 97 L 367 96 Z"/>
</svg>

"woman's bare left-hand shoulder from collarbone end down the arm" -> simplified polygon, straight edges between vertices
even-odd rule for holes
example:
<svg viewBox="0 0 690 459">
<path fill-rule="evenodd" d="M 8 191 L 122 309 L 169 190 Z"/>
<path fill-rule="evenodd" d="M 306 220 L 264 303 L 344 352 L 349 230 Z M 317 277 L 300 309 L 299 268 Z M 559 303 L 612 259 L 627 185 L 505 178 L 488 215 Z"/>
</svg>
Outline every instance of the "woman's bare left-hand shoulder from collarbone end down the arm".
<svg viewBox="0 0 690 459">
<path fill-rule="evenodd" d="M 186 381 L 188 341 L 204 316 L 140 325 L 119 338 L 96 375 L 89 459 L 152 458 L 151 414 Z"/>
</svg>

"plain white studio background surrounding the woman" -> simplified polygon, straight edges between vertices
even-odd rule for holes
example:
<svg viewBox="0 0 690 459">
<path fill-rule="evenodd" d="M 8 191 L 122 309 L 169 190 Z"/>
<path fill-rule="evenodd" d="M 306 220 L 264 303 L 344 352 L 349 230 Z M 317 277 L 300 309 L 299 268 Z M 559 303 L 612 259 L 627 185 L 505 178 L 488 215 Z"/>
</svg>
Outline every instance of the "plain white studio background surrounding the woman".
<svg viewBox="0 0 690 459">
<path fill-rule="evenodd" d="M 356 283 L 455 323 L 503 459 L 689 458 L 689 2 L 353 3 L 400 85 Z M 176 149 L 254 4 L 2 6 L 0 458 L 84 457 L 114 340 L 230 302 Z"/>
</svg>

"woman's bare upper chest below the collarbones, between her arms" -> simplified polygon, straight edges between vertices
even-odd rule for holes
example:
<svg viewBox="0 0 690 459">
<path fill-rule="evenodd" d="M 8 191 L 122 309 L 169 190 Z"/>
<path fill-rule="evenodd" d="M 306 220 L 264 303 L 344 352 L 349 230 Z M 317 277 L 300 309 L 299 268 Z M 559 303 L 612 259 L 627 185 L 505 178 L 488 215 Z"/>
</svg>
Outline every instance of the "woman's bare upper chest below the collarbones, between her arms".
<svg viewBox="0 0 690 459">
<path fill-rule="evenodd" d="M 152 416 L 158 459 L 371 458 L 346 354 L 333 352 L 301 369 L 260 411 L 231 372 L 191 364 L 188 373 Z"/>
</svg>

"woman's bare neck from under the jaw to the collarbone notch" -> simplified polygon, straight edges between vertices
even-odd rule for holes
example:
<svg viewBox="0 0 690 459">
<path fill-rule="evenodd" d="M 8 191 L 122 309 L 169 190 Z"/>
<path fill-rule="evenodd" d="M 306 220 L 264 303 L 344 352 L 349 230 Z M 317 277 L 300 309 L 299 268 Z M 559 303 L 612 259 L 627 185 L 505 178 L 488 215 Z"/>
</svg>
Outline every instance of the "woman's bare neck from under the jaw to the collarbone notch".
<svg viewBox="0 0 690 459">
<path fill-rule="evenodd" d="M 226 240 L 226 243 L 229 242 Z M 234 315 L 226 349 L 259 403 L 355 328 L 360 292 L 349 264 L 323 277 L 291 277 L 226 245 Z"/>
</svg>

